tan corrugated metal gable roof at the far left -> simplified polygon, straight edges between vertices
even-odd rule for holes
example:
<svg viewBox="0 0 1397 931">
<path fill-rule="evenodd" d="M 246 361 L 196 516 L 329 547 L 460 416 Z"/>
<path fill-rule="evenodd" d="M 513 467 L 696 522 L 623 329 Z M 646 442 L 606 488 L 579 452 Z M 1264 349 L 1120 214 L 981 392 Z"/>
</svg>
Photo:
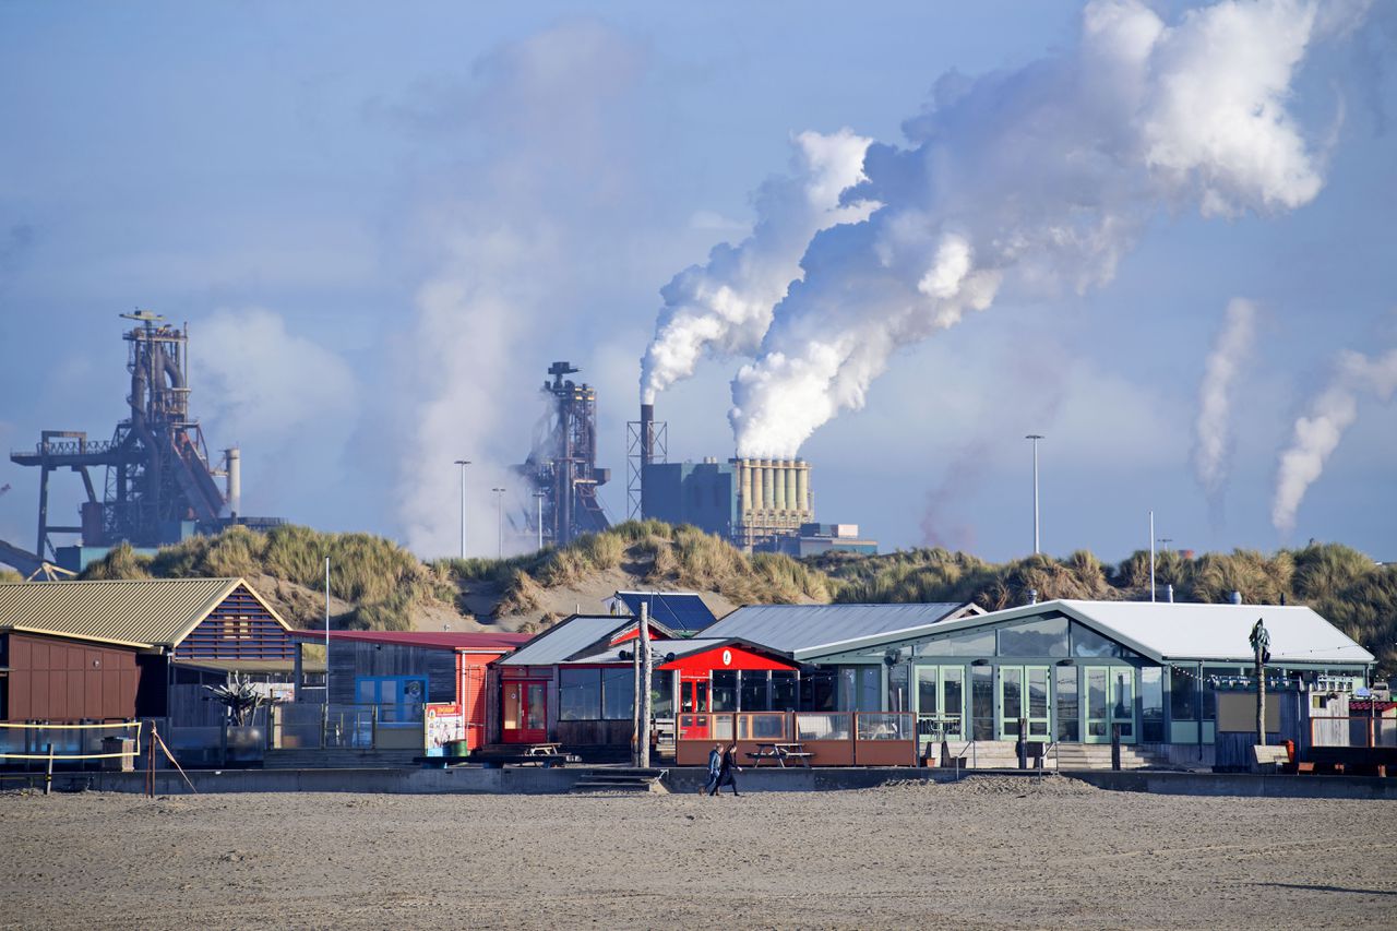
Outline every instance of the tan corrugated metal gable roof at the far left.
<svg viewBox="0 0 1397 931">
<path fill-rule="evenodd" d="M 175 646 L 239 584 L 246 582 L 122 579 L 0 584 L 0 629 L 127 646 Z M 281 621 L 265 601 L 263 605 Z"/>
</svg>

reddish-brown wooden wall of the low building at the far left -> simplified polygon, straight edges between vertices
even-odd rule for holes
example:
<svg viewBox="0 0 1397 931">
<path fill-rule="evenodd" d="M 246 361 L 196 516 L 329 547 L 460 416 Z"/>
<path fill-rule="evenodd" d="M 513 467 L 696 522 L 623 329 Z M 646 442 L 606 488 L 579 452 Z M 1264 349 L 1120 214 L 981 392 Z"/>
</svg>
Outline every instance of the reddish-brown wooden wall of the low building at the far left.
<svg viewBox="0 0 1397 931">
<path fill-rule="evenodd" d="M 29 633 L 0 633 L 10 675 L 10 721 L 130 720 L 141 671 L 133 647 L 88 644 Z"/>
</svg>

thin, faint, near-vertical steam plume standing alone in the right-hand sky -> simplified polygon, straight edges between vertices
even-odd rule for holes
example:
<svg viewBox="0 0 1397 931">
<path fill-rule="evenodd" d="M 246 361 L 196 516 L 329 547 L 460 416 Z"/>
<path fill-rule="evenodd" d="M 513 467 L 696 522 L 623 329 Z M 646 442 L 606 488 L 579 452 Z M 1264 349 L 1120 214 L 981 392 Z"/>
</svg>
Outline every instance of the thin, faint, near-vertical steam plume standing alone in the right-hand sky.
<svg viewBox="0 0 1397 931">
<path fill-rule="evenodd" d="M 1256 335 L 1256 305 L 1234 298 L 1227 306 L 1222 330 L 1208 352 L 1199 384 L 1199 418 L 1194 422 L 1193 470 L 1214 513 L 1221 513 L 1232 456 L 1232 383 L 1246 362 Z"/>
</svg>

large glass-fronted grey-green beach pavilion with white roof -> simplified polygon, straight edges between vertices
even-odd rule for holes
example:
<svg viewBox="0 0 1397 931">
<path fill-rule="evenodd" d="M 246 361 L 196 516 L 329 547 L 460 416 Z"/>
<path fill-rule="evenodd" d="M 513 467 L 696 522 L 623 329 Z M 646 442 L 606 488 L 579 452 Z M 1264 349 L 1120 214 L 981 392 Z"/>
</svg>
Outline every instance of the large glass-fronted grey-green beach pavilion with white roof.
<svg viewBox="0 0 1397 931">
<path fill-rule="evenodd" d="M 1125 744 L 1201 746 L 1215 737 L 1214 686 L 1253 671 L 1257 618 L 1267 677 L 1366 681 L 1363 647 L 1309 608 L 1271 605 L 1049 601 L 795 658 L 833 679 L 844 707 L 916 713 L 923 738 L 1109 744 L 1119 731 Z"/>
</svg>

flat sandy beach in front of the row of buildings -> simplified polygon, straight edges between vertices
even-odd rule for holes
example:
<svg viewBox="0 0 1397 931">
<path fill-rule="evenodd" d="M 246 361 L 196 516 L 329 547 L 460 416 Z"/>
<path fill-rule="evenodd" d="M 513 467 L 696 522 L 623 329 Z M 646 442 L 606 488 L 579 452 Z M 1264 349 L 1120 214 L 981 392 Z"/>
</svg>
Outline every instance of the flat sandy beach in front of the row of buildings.
<svg viewBox="0 0 1397 931">
<path fill-rule="evenodd" d="M 0 795 L 3 927 L 1393 927 L 1397 802 Z"/>
</svg>

